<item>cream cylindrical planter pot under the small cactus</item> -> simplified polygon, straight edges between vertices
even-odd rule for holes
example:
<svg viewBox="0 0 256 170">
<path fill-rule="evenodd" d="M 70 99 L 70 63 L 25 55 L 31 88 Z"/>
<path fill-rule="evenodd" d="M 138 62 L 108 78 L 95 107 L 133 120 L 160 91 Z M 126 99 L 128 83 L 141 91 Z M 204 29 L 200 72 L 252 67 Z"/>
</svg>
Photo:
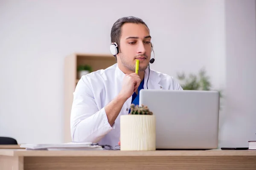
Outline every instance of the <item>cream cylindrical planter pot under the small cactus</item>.
<svg viewBox="0 0 256 170">
<path fill-rule="evenodd" d="M 120 150 L 156 150 L 154 115 L 120 116 Z"/>
</svg>

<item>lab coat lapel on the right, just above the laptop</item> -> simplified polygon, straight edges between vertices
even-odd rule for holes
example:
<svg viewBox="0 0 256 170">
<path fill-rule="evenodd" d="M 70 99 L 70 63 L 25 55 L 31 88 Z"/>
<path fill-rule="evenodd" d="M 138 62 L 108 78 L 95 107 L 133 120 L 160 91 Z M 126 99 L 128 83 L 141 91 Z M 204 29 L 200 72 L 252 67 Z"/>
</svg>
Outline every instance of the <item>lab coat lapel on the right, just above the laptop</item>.
<svg viewBox="0 0 256 170">
<path fill-rule="evenodd" d="M 161 78 L 158 77 L 158 75 L 150 70 L 149 72 L 149 78 L 148 78 L 148 71 L 149 68 L 145 70 L 144 74 L 144 89 L 147 89 L 147 80 L 148 80 L 148 89 L 154 89 L 154 90 L 162 90 L 163 85 L 160 84 Z"/>
</svg>

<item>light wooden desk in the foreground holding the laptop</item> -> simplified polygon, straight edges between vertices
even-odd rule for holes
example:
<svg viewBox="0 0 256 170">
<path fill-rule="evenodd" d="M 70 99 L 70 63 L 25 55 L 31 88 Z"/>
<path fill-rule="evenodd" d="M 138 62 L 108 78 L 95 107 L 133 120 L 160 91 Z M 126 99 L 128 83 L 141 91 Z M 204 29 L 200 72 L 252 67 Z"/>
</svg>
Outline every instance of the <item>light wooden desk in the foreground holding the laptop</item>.
<svg viewBox="0 0 256 170">
<path fill-rule="evenodd" d="M 0 170 L 256 170 L 253 150 L 0 150 Z"/>
</svg>

